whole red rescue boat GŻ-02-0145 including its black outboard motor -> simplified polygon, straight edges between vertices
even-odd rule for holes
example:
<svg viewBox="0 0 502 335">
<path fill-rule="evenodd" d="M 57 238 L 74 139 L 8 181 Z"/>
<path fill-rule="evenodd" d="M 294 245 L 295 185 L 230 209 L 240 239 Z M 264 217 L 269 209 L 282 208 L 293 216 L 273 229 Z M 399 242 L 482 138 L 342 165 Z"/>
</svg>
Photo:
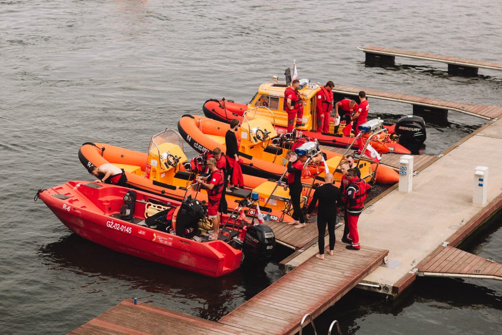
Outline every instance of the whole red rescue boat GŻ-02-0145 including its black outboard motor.
<svg viewBox="0 0 502 335">
<path fill-rule="evenodd" d="M 173 222 L 174 228 L 170 234 L 165 228 L 158 228 L 161 225 L 159 222 L 166 223 L 166 220 L 162 220 L 166 216 L 165 212 L 172 208 L 183 208 L 183 204 L 177 201 L 166 202 L 165 198 L 151 193 L 136 190 L 131 192 L 135 197 L 133 205 L 131 206 L 131 202 L 128 205 L 130 216 L 122 215 L 121 207 L 124 202 L 127 203 L 124 198 L 126 193 L 131 193 L 128 188 L 116 185 L 69 181 L 48 190 L 39 190 L 38 197 L 64 225 L 89 241 L 124 254 L 210 277 L 223 276 L 240 267 L 242 251 L 235 246 L 238 244 L 237 240 L 241 241 L 240 247 L 246 255 L 258 256 L 255 258 L 261 260 L 268 259 L 275 248 L 275 237 L 268 226 L 247 228 L 238 222 L 233 226 L 229 224 L 226 229 L 223 226 L 223 235 L 219 240 L 209 241 L 200 236 L 197 240 L 205 242 L 195 241 L 190 238 L 195 234 L 192 233 L 193 226 L 187 221 L 186 214 L 178 215 L 178 223 Z M 190 201 L 193 203 L 198 200 Z M 153 215 L 149 215 L 152 213 Z M 176 214 L 173 218 L 175 220 Z M 223 222 L 225 221 L 228 222 L 228 216 L 224 216 Z M 168 224 L 169 222 L 166 223 Z M 259 234 L 254 235 L 254 231 Z M 190 235 L 184 235 L 183 232 Z M 250 235 L 252 239 L 246 239 L 246 235 Z M 258 235 L 260 236 L 257 238 Z M 228 241 L 234 244 L 227 243 Z M 267 245 L 266 248 L 263 243 Z"/>
</svg>

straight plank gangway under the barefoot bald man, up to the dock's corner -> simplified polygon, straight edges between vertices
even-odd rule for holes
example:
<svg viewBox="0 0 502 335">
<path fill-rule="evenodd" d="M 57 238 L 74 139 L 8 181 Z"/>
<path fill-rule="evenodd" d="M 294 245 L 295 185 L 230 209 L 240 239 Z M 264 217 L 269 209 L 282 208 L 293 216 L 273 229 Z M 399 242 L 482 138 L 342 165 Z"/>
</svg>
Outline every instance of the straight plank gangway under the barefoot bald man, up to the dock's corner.
<svg viewBox="0 0 502 335">
<path fill-rule="evenodd" d="M 294 334 L 306 313 L 317 317 L 382 264 L 387 250 L 345 249 L 336 243 L 334 256 L 316 257 L 223 316 L 218 322 L 259 334 Z"/>
</svg>

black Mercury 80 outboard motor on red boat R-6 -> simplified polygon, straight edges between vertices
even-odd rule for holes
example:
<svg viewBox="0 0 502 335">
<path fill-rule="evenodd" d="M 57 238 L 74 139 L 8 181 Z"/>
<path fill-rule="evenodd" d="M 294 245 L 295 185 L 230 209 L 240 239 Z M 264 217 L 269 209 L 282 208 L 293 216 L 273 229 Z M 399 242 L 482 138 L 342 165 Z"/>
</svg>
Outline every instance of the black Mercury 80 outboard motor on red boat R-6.
<svg viewBox="0 0 502 335">
<path fill-rule="evenodd" d="M 267 225 L 247 229 L 242 245 L 246 260 L 264 262 L 270 260 L 276 248 L 276 236 Z"/>
</svg>

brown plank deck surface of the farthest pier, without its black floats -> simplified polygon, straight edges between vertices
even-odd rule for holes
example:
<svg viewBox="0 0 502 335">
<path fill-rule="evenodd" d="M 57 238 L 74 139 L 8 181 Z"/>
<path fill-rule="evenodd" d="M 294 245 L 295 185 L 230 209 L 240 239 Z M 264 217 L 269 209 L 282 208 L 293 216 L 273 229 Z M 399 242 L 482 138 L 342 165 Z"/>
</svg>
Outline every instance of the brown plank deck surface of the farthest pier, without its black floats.
<svg viewBox="0 0 502 335">
<path fill-rule="evenodd" d="M 376 47 L 376 46 L 365 46 L 365 47 L 357 47 L 357 49 L 364 51 L 365 53 L 373 53 L 379 55 L 387 55 L 387 56 L 399 56 L 399 57 L 407 57 L 407 58 L 417 58 L 430 60 L 435 62 L 442 62 L 453 65 L 461 65 L 461 66 L 469 66 L 469 67 L 482 67 L 491 70 L 502 70 L 502 64 L 495 62 L 487 62 L 469 58 L 461 58 L 461 57 L 450 57 L 450 56 L 442 56 L 435 55 L 428 52 L 418 52 L 418 51 L 408 51 L 401 49 L 393 49 L 393 48 L 385 48 L 385 47 Z"/>
</svg>

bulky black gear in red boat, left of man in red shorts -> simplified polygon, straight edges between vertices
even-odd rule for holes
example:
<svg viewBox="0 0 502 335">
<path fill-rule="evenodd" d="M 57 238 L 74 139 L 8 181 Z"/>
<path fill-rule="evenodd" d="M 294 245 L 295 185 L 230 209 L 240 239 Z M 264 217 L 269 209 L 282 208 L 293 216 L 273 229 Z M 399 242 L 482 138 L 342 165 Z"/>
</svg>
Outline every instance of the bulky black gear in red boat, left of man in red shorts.
<svg viewBox="0 0 502 335">
<path fill-rule="evenodd" d="M 206 208 L 205 201 L 188 196 L 181 204 L 176 217 L 176 235 L 187 239 L 197 235 L 199 233 L 198 222 L 206 216 Z"/>
</svg>

